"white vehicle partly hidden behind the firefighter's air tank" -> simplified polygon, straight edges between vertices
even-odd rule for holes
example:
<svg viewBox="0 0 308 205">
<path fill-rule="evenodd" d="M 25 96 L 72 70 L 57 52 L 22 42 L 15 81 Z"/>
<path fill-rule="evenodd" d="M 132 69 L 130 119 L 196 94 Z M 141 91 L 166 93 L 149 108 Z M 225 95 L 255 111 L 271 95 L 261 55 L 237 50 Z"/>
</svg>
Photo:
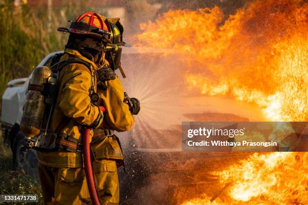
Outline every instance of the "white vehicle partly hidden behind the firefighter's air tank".
<svg viewBox="0 0 308 205">
<path fill-rule="evenodd" d="M 47 55 L 38 66 L 46 65 L 56 53 Z M 1 127 L 4 144 L 12 149 L 13 165 L 17 168 L 23 168 L 27 172 L 36 171 L 38 160 L 36 152 L 29 149 L 28 152 L 20 151 L 20 145 L 24 140 L 19 125 L 25 104 L 26 91 L 29 84 L 29 77 L 11 80 L 2 96 L 1 108 Z"/>
</svg>

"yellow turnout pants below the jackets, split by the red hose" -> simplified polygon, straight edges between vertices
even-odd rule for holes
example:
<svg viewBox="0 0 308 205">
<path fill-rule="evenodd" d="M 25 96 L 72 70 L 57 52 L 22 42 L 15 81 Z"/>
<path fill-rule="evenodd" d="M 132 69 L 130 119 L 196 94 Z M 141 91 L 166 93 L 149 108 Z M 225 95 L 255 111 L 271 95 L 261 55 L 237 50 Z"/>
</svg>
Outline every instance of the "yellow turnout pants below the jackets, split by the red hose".
<svg viewBox="0 0 308 205">
<path fill-rule="evenodd" d="M 94 162 L 101 204 L 119 203 L 116 162 Z M 56 168 L 39 163 L 39 176 L 45 204 L 91 204 L 84 168 Z"/>
</svg>

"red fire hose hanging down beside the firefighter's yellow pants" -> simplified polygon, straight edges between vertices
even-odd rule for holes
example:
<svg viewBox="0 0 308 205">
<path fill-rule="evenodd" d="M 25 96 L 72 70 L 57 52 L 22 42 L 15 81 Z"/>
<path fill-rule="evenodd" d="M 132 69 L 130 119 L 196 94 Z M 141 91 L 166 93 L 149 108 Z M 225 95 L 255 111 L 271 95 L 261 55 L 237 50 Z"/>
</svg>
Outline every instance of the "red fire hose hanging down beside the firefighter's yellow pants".
<svg viewBox="0 0 308 205">
<path fill-rule="evenodd" d="M 105 108 L 103 106 L 99 107 L 104 113 Z M 99 196 L 96 190 L 93 173 L 92 173 L 92 163 L 90 157 L 90 129 L 85 129 L 83 133 L 83 157 L 86 172 L 86 179 L 88 184 L 88 189 L 91 197 L 92 204 L 99 205 Z"/>
</svg>

